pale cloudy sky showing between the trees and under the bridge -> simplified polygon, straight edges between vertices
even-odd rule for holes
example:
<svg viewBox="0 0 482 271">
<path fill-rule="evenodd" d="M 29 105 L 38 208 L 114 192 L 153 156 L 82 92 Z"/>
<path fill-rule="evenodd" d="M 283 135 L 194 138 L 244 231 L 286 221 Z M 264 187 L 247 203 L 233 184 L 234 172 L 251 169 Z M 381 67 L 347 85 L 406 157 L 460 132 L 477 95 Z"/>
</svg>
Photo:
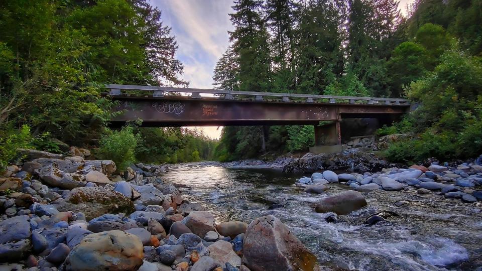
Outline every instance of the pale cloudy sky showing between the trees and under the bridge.
<svg viewBox="0 0 482 271">
<path fill-rule="evenodd" d="M 405 13 L 406 4 L 413 0 L 400 0 Z M 212 71 L 217 60 L 229 45 L 228 31 L 233 0 L 151 0 L 162 11 L 165 26 L 172 28 L 179 46 L 176 58 L 184 64 L 181 78 L 189 87 L 212 89 Z M 218 139 L 221 128 L 195 127 L 210 138 Z"/>
</svg>

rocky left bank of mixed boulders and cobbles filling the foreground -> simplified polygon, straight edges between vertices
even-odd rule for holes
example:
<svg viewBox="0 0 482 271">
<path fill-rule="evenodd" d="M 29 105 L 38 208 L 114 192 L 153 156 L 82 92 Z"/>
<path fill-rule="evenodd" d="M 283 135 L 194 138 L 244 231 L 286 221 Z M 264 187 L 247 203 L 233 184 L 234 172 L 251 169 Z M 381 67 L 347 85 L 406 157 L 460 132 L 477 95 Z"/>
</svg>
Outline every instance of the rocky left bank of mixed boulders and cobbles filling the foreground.
<svg viewBox="0 0 482 271">
<path fill-rule="evenodd" d="M 277 217 L 216 223 L 164 166 L 24 150 L 0 178 L 0 270 L 317 270 Z"/>
</svg>

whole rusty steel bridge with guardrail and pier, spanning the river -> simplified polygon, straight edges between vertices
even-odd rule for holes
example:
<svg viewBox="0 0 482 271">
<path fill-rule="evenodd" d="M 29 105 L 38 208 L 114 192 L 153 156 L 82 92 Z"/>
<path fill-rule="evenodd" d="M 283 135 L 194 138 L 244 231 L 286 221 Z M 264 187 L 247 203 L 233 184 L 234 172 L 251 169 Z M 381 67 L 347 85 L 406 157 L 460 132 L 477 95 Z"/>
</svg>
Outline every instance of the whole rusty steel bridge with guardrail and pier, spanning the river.
<svg viewBox="0 0 482 271">
<path fill-rule="evenodd" d="M 341 125 L 348 118 L 376 118 L 390 124 L 405 114 L 410 101 L 295 93 L 228 91 L 136 85 L 106 85 L 113 110 L 124 113 L 112 126 L 142 120 L 145 127 L 300 125 L 315 126 L 311 152 L 341 152 Z M 323 125 L 319 125 L 323 121 Z"/>
</svg>

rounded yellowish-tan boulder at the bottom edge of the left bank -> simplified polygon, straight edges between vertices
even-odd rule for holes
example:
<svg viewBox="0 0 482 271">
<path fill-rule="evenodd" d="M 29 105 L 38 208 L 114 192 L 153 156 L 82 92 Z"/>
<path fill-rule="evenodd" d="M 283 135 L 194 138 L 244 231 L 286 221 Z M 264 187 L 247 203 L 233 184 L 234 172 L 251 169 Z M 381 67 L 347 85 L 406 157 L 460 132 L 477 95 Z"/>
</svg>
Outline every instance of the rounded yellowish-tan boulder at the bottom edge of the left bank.
<svg viewBox="0 0 482 271">
<path fill-rule="evenodd" d="M 137 270 L 143 263 L 144 246 L 134 234 L 111 230 L 89 234 L 67 259 L 68 271 Z"/>
</svg>

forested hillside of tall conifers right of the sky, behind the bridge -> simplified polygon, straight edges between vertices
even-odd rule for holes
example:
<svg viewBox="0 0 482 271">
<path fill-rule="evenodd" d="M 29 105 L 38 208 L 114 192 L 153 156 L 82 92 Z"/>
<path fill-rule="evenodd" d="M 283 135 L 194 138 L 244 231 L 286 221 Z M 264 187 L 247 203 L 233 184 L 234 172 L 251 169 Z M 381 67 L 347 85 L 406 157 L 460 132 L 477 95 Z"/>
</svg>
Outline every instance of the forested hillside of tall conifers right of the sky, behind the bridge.
<svg viewBox="0 0 482 271">
<path fill-rule="evenodd" d="M 214 69 L 215 87 L 409 97 L 422 106 L 380 131 L 415 136 L 390 148 L 391 159 L 482 151 L 482 1 L 238 0 L 233 9 L 235 30 Z M 225 127 L 216 155 L 306 150 L 313 133 L 312 126 Z"/>
</svg>

